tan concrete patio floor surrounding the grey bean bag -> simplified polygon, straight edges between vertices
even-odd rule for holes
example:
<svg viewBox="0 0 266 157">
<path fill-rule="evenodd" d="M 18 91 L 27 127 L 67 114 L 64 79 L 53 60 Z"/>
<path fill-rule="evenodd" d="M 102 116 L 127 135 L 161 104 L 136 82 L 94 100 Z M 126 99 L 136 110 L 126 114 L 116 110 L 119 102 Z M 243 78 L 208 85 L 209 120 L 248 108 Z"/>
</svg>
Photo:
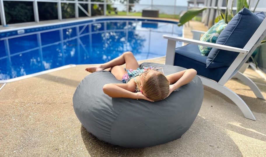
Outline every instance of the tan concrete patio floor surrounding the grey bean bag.
<svg viewBox="0 0 266 157">
<path fill-rule="evenodd" d="M 193 28 L 192 28 L 193 27 Z M 200 22 L 191 29 L 206 30 Z M 141 62 L 164 63 L 165 57 Z M 245 118 L 225 95 L 204 86 L 204 99 L 191 128 L 180 138 L 154 147 L 114 146 L 88 133 L 76 117 L 72 96 L 90 65 L 7 83 L 0 91 L 0 156 L 266 156 L 266 102 L 237 79 L 225 86 L 249 106 L 256 121 Z M 266 97 L 266 80 L 252 69 L 244 73 Z"/>
</svg>

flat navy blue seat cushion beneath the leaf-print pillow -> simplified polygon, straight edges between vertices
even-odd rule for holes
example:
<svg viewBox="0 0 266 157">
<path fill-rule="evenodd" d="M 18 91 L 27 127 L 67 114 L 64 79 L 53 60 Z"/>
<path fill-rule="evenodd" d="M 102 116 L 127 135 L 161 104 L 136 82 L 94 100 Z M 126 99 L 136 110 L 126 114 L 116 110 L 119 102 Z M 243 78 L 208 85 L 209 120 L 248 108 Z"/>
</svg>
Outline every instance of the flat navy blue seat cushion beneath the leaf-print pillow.
<svg viewBox="0 0 266 157">
<path fill-rule="evenodd" d="M 176 48 L 174 65 L 187 69 L 195 69 L 197 70 L 198 75 L 218 82 L 228 67 L 206 68 L 206 58 L 207 56 L 202 56 L 200 54 L 199 47 L 197 45 L 188 44 L 186 46 Z"/>
</svg>

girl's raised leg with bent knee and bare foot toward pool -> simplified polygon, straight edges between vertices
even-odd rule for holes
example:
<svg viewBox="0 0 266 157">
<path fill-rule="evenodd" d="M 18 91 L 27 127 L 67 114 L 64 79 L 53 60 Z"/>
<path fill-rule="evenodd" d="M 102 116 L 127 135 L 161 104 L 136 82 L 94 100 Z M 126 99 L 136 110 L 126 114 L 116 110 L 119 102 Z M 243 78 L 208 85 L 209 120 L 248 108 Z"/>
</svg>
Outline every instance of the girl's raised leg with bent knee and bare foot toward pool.
<svg viewBox="0 0 266 157">
<path fill-rule="evenodd" d="M 136 61 L 134 55 L 132 52 L 125 52 L 123 53 L 121 56 L 107 62 L 104 64 L 100 64 L 97 66 L 93 66 L 93 67 L 88 67 L 85 70 L 89 71 L 89 72 L 95 72 L 95 71 L 100 71 L 100 70 L 104 70 L 107 68 L 111 68 L 114 67 L 116 65 L 123 65 L 126 63 L 126 69 L 137 69 L 139 68 L 139 64 Z"/>
</svg>

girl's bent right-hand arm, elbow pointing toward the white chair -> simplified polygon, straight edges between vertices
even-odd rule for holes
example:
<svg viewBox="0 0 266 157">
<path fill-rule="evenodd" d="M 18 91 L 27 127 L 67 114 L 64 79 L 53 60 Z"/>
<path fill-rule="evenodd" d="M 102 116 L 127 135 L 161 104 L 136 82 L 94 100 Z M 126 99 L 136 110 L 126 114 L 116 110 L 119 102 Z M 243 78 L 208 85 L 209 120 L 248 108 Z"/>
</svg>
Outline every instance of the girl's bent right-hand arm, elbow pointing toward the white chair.
<svg viewBox="0 0 266 157">
<path fill-rule="evenodd" d="M 187 69 L 165 76 L 172 83 L 169 95 L 172 91 L 192 81 L 196 74 L 197 71 L 195 69 Z"/>
</svg>

